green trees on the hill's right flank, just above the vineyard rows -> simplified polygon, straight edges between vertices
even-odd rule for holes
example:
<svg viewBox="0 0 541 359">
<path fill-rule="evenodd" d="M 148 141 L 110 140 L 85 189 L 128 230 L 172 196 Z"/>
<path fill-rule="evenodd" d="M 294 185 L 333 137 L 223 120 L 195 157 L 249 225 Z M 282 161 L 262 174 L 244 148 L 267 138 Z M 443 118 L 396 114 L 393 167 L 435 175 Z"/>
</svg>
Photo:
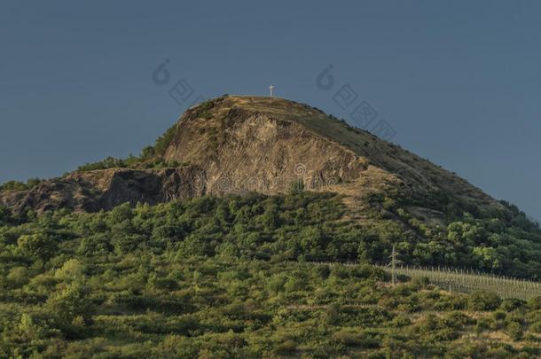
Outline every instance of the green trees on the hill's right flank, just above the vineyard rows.
<svg viewBox="0 0 541 359">
<path fill-rule="evenodd" d="M 481 208 L 449 197 L 442 206 L 430 199 L 412 203 L 401 196 L 372 195 L 369 202 L 381 208 L 379 225 L 408 263 L 541 278 L 541 230 L 517 207 L 502 202 L 502 207 Z M 427 221 L 408 209 L 412 205 L 442 210 L 445 222 Z"/>
</svg>

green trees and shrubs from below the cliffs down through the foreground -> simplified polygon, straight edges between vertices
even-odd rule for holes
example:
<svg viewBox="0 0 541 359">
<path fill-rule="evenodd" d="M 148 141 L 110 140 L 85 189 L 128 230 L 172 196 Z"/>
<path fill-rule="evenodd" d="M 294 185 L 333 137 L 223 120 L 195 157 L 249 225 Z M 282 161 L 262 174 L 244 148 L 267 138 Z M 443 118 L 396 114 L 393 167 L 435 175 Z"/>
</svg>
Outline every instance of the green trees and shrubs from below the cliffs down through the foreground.
<svg viewBox="0 0 541 359">
<path fill-rule="evenodd" d="M 0 357 L 541 355 L 541 300 L 443 293 L 407 277 L 392 288 L 368 261 L 387 260 L 402 232 L 346 210 L 302 191 L 25 221 L 5 212 Z M 463 340 L 474 333 L 482 343 Z"/>
</svg>

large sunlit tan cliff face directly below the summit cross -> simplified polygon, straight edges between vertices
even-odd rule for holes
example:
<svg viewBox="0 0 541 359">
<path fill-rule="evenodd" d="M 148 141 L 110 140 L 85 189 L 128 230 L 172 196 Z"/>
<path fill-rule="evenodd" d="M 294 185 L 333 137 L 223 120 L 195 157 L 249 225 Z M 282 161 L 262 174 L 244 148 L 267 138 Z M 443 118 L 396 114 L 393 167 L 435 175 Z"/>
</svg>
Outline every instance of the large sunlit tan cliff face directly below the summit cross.
<svg viewBox="0 0 541 359">
<path fill-rule="evenodd" d="M 216 117 L 188 113 L 166 152 L 167 160 L 201 168 L 208 193 L 276 193 L 300 179 L 318 189 L 354 181 L 367 168 L 365 159 L 299 123 L 225 105 Z"/>
</svg>

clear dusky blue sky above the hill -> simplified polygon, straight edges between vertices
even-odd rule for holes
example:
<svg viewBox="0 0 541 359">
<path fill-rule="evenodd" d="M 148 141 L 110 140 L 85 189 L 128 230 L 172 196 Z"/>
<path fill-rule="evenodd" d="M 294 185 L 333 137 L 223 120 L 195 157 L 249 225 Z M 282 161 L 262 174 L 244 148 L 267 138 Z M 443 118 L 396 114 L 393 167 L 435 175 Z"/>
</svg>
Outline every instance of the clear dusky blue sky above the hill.
<svg viewBox="0 0 541 359">
<path fill-rule="evenodd" d="M 273 84 L 346 119 L 333 94 L 349 84 L 394 142 L 539 219 L 539 14 L 536 1 L 4 1 L 0 182 L 137 154 L 187 107 L 168 93 L 183 79 L 192 99 Z"/>
</svg>

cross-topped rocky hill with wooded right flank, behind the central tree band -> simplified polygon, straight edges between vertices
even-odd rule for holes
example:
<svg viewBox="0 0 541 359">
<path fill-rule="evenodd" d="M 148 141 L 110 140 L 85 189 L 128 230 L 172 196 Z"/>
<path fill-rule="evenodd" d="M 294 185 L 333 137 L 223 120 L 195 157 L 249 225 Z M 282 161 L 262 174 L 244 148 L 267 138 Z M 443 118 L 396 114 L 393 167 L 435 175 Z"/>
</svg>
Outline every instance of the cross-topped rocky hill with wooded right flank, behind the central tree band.
<svg viewBox="0 0 541 359">
<path fill-rule="evenodd" d="M 341 221 L 356 236 L 355 248 L 325 243 L 302 254 L 310 260 L 384 264 L 395 244 L 413 265 L 541 276 L 541 231 L 517 207 L 396 144 L 280 98 L 215 98 L 187 110 L 138 157 L 7 184 L 0 204 L 23 222 L 28 210 L 97 212 L 126 202 L 292 188 L 333 192 L 345 205 Z"/>
</svg>

